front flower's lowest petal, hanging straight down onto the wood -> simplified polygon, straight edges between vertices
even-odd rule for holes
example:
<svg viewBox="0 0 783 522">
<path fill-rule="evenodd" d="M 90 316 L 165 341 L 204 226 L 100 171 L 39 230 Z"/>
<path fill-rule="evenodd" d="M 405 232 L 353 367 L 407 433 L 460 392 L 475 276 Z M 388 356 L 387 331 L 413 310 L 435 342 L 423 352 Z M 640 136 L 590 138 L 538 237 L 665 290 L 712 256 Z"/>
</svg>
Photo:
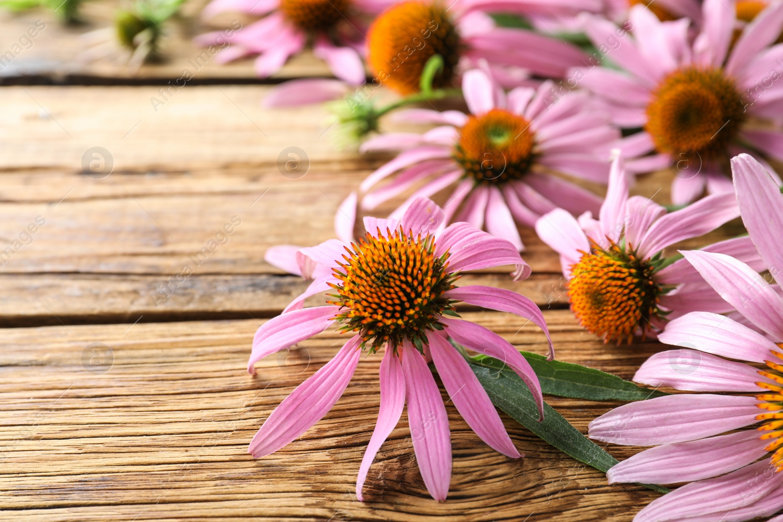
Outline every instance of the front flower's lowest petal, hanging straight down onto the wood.
<svg viewBox="0 0 783 522">
<path fill-rule="evenodd" d="M 449 494 L 451 481 L 451 434 L 446 407 L 424 356 L 407 341 L 402 352 L 402 372 L 413 452 L 427 491 L 442 502 Z"/>
</svg>

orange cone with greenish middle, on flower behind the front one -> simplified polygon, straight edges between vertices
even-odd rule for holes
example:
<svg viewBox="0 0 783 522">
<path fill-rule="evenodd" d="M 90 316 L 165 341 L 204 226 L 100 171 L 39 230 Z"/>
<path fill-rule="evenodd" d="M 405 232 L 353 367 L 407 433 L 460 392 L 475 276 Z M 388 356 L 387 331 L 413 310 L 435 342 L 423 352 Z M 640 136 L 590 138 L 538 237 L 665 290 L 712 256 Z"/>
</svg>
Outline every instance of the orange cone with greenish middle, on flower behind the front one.
<svg viewBox="0 0 783 522">
<path fill-rule="evenodd" d="M 471 116 L 460 130 L 454 160 L 477 183 L 500 185 L 524 178 L 534 160 L 536 136 L 524 117 L 503 109 Z"/>
</svg>

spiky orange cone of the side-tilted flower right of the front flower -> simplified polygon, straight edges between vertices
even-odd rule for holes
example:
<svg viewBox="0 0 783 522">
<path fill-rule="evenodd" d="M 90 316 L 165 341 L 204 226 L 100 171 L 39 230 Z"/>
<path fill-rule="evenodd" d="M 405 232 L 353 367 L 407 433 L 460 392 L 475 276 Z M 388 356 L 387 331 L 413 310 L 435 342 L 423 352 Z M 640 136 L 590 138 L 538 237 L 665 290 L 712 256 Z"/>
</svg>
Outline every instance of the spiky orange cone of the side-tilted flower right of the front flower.
<svg viewBox="0 0 783 522">
<path fill-rule="evenodd" d="M 651 319 L 660 319 L 662 286 L 655 282 L 655 268 L 632 248 L 612 243 L 604 250 L 592 243 L 589 252 L 571 266 L 568 301 L 586 329 L 604 342 L 626 341 L 642 335 Z"/>
</svg>

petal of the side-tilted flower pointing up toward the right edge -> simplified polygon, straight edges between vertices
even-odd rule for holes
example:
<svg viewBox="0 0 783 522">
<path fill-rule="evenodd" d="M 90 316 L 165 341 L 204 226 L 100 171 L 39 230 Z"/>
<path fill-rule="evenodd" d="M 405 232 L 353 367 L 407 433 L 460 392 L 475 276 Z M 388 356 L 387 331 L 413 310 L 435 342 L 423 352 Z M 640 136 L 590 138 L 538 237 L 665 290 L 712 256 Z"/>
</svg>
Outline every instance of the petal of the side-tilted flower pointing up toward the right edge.
<svg viewBox="0 0 783 522">
<path fill-rule="evenodd" d="M 738 217 L 736 198 L 707 196 L 655 221 L 639 242 L 637 251 L 640 257 L 650 257 L 678 241 L 702 236 Z"/>
</svg>

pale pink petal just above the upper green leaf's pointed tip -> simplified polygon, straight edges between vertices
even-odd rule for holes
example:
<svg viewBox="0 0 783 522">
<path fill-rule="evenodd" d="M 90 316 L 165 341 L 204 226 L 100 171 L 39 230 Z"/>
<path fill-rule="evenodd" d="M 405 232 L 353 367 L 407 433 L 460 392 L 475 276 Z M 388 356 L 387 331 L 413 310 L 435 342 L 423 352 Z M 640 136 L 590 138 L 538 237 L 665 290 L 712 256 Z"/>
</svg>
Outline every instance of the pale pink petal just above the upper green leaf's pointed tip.
<svg viewBox="0 0 783 522">
<path fill-rule="evenodd" d="M 633 380 L 684 391 L 763 392 L 756 386 L 763 379 L 751 365 L 684 348 L 662 351 L 648 358 Z"/>
</svg>

